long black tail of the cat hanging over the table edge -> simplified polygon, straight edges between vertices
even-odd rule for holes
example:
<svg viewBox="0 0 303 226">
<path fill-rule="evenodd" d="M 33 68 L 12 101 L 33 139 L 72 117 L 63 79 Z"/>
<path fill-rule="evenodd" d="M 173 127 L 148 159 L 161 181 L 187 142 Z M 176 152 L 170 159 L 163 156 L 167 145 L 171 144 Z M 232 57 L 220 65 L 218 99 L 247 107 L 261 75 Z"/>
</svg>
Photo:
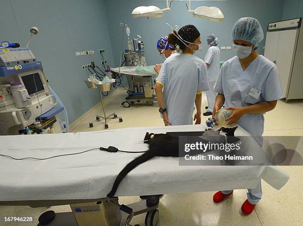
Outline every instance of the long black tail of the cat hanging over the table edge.
<svg viewBox="0 0 303 226">
<path fill-rule="evenodd" d="M 155 155 L 149 150 L 145 152 L 143 155 L 140 155 L 139 157 L 135 158 L 133 161 L 128 163 L 123 170 L 118 174 L 116 177 L 116 180 L 114 184 L 112 185 L 111 191 L 106 195 L 107 197 L 113 197 L 118 189 L 118 186 L 120 182 L 123 180 L 123 178 L 133 169 L 135 169 L 140 164 L 152 159 Z"/>
</svg>

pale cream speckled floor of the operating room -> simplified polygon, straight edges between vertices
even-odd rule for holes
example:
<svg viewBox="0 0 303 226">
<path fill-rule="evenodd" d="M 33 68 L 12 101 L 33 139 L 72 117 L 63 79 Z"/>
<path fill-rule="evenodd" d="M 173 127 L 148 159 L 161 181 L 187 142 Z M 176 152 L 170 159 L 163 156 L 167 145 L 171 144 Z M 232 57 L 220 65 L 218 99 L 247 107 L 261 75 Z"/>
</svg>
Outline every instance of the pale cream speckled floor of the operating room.
<svg viewBox="0 0 303 226">
<path fill-rule="evenodd" d="M 118 91 L 106 106 L 106 111 L 116 111 L 123 122 L 110 120 L 109 129 L 127 127 L 162 126 L 158 106 L 134 104 L 130 108 L 121 105 L 126 91 Z M 202 109 L 206 105 L 203 94 Z M 285 103 L 279 100 L 277 107 L 265 114 L 265 136 L 303 136 L 303 101 L 290 101 Z M 94 120 L 101 109 L 89 116 L 72 132 L 103 130 L 103 124 L 97 123 L 89 127 L 89 121 Z M 202 116 L 202 122 L 207 117 Z M 290 180 L 279 191 L 266 182 L 262 182 L 263 197 L 249 216 L 241 213 L 241 205 L 246 200 L 246 190 L 235 190 L 233 196 L 220 204 L 212 202 L 214 192 L 200 192 L 192 194 L 165 195 L 159 205 L 159 222 L 157 226 L 302 226 L 303 225 L 303 167 L 281 167 L 290 174 Z M 120 197 L 123 204 L 139 200 L 139 197 Z M 70 211 L 69 206 L 50 207 L 56 212 Z M 3 216 L 32 216 L 34 224 L 20 224 L 36 226 L 37 219 L 47 208 L 30 207 L 1 207 L 0 218 Z M 132 224 L 144 226 L 145 215 L 136 216 Z M 15 223 L 0 226 L 17 226 Z"/>
</svg>

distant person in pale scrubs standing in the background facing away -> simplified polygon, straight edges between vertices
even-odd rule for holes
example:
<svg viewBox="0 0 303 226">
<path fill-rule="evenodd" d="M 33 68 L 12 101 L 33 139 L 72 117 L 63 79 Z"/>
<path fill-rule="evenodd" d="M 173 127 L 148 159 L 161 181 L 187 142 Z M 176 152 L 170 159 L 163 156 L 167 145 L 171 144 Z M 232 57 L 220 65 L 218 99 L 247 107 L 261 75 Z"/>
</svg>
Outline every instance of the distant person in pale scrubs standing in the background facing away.
<svg viewBox="0 0 303 226">
<path fill-rule="evenodd" d="M 219 40 L 214 34 L 210 34 L 206 37 L 206 43 L 210 46 L 204 59 L 208 70 L 209 90 L 206 91 L 208 108 L 207 111 L 203 113 L 204 116 L 212 115 L 212 107 L 217 95 L 217 93 L 213 90 L 213 87 L 220 72 L 220 49 L 217 46 L 218 42 Z"/>
</svg>

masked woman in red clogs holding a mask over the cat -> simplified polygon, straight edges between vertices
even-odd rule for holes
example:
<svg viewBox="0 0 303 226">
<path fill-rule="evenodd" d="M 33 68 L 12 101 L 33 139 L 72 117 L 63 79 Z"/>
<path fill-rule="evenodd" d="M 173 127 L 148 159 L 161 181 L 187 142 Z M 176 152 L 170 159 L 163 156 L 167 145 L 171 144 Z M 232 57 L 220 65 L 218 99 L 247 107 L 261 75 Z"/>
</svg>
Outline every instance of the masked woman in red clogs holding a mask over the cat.
<svg viewBox="0 0 303 226">
<path fill-rule="evenodd" d="M 233 48 L 237 56 L 221 67 L 214 90 L 218 93 L 213 107 L 214 114 L 224 105 L 233 110 L 226 119 L 247 130 L 260 146 L 263 144 L 265 112 L 276 107 L 284 97 L 276 65 L 255 50 L 263 39 L 259 21 L 252 17 L 239 19 L 232 29 Z M 231 195 L 233 190 L 218 191 L 213 201 L 218 203 Z M 262 197 L 261 180 L 248 189 L 248 199 L 242 205 L 244 214 L 251 214 Z"/>
</svg>

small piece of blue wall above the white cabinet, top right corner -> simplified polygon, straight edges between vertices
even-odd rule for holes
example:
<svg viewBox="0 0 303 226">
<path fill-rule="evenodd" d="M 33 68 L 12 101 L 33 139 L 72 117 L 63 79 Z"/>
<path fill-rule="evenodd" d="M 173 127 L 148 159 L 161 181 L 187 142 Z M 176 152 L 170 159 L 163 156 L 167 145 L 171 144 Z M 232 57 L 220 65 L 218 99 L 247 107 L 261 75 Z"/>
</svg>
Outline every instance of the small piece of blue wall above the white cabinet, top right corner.
<svg viewBox="0 0 303 226">
<path fill-rule="evenodd" d="M 303 0 L 285 0 L 283 20 L 303 17 Z"/>
</svg>

